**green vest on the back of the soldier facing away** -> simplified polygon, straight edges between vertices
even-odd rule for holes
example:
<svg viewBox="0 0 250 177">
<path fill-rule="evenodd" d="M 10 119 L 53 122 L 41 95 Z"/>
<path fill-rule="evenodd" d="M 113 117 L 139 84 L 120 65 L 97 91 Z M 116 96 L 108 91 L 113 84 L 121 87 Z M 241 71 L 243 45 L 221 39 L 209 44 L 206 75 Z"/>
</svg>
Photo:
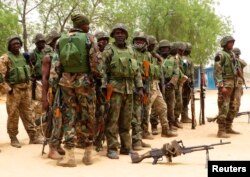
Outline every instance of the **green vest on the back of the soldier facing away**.
<svg viewBox="0 0 250 177">
<path fill-rule="evenodd" d="M 63 33 L 59 39 L 59 57 L 66 73 L 89 73 L 90 66 L 87 51 L 87 34 L 75 32 Z"/>
</svg>

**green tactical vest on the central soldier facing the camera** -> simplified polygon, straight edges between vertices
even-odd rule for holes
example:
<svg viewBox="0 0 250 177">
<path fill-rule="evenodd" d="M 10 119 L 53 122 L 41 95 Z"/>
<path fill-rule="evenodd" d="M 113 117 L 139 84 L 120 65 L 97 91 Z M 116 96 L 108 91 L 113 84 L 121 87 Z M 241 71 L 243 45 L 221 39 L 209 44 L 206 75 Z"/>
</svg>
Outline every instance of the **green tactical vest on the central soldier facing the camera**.
<svg viewBox="0 0 250 177">
<path fill-rule="evenodd" d="M 133 78 L 139 69 L 138 63 L 134 58 L 132 48 L 119 49 L 111 45 L 113 57 L 110 63 L 112 77 Z"/>
</svg>

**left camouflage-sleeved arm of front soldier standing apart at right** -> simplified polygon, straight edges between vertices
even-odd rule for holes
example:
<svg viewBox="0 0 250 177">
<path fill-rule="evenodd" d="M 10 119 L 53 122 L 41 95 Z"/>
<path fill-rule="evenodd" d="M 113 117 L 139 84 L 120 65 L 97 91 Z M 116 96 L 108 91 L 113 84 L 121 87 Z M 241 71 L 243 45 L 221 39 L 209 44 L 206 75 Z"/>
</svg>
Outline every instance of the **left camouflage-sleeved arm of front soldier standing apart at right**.
<svg viewBox="0 0 250 177">
<path fill-rule="evenodd" d="M 221 54 L 217 54 L 214 59 L 214 79 L 217 87 L 223 87 L 223 57 Z"/>
</svg>

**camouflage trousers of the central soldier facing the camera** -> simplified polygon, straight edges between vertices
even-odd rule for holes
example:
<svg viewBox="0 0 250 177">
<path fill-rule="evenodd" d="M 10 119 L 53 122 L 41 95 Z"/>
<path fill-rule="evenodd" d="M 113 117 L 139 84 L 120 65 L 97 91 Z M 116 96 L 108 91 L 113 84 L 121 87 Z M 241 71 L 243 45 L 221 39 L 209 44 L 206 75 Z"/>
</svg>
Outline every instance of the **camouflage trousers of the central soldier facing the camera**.
<svg viewBox="0 0 250 177">
<path fill-rule="evenodd" d="M 117 151 L 120 135 L 121 150 L 131 149 L 131 120 L 133 112 L 133 94 L 122 94 L 113 92 L 110 100 L 110 109 L 106 124 L 107 147 L 109 150 Z"/>
</svg>

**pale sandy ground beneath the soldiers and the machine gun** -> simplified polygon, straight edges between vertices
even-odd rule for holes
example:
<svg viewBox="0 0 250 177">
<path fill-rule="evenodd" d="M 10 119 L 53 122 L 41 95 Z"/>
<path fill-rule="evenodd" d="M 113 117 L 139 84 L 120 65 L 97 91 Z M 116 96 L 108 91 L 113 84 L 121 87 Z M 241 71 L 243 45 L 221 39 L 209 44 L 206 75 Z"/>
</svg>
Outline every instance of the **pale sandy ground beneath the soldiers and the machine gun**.
<svg viewBox="0 0 250 177">
<path fill-rule="evenodd" d="M 207 91 L 206 93 L 206 116 L 217 114 L 217 91 Z M 196 95 L 198 97 L 198 93 Z M 28 136 L 24 131 L 22 123 L 19 124 L 18 138 L 22 148 L 13 148 L 9 144 L 9 137 L 6 130 L 6 108 L 4 98 L 0 102 L 0 176 L 1 177 L 33 177 L 33 176 L 60 176 L 60 177 L 205 177 L 207 176 L 206 153 L 205 151 L 194 152 L 173 158 L 173 163 L 167 163 L 166 158 L 159 161 L 157 165 L 152 165 L 153 159 L 145 159 L 140 164 L 132 164 L 129 156 L 120 155 L 119 160 L 110 160 L 105 154 L 99 152 L 95 154 L 95 163 L 85 166 L 82 162 L 83 150 L 76 149 L 77 167 L 63 168 L 56 166 L 56 161 L 48 159 L 46 155 L 41 156 L 41 145 L 29 145 Z M 250 89 L 245 90 L 242 98 L 241 111 L 250 110 Z M 199 101 L 196 101 L 196 118 L 199 115 Z M 21 121 L 20 121 L 21 122 Z M 241 132 L 241 135 L 232 135 L 231 144 L 216 146 L 210 150 L 210 160 L 250 160 L 250 124 L 248 117 L 241 116 L 234 123 L 234 128 Z M 185 124 L 183 130 L 178 130 L 177 138 L 162 138 L 159 135 L 154 140 L 145 140 L 153 148 L 161 148 L 164 143 L 172 140 L 182 140 L 185 146 L 195 146 L 211 143 L 219 143 L 216 138 L 217 124 L 208 123 L 198 125 L 195 130 L 190 124 Z M 224 140 L 223 140 L 224 141 Z M 149 149 L 140 151 L 144 153 Z M 46 147 L 48 151 L 48 147 Z"/>
</svg>

